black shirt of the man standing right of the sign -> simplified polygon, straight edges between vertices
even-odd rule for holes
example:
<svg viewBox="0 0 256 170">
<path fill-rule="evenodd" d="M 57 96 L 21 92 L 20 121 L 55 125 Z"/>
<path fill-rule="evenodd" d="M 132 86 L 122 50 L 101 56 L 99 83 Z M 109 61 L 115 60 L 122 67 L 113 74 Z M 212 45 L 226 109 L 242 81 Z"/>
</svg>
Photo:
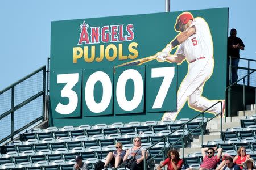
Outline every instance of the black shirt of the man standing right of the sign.
<svg viewBox="0 0 256 170">
<path fill-rule="evenodd" d="M 243 41 L 238 38 L 238 37 L 228 37 L 228 58 L 229 56 L 232 56 L 232 57 L 237 57 L 239 58 L 240 55 L 239 55 L 239 48 L 233 48 L 233 45 L 237 45 L 239 44 L 240 46 L 243 46 L 245 47 L 245 45 L 243 44 Z"/>
</svg>

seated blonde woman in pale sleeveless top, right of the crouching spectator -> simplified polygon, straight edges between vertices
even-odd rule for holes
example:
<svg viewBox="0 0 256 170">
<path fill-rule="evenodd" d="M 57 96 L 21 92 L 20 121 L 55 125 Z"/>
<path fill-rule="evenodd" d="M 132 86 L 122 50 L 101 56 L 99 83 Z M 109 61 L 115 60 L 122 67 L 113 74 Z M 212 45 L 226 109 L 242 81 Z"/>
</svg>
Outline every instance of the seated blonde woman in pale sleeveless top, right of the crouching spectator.
<svg viewBox="0 0 256 170">
<path fill-rule="evenodd" d="M 130 170 L 143 169 L 143 160 L 144 157 L 146 157 L 147 159 L 148 154 L 146 150 L 141 146 L 141 138 L 134 138 L 133 145 L 133 147 L 126 151 L 123 162 L 135 156 L 135 161 L 133 162 L 133 164 L 131 164 Z"/>
</svg>

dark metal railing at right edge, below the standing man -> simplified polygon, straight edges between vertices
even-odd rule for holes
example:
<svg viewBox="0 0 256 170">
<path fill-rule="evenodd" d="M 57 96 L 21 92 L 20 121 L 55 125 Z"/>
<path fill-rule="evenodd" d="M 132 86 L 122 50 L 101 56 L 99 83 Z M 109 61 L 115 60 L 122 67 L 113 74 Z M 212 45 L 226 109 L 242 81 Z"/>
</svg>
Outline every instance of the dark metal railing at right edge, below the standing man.
<svg viewBox="0 0 256 170">
<path fill-rule="evenodd" d="M 242 83 L 242 86 L 243 86 L 243 115 L 245 116 L 245 78 L 247 78 L 247 80 L 249 80 L 250 78 L 250 75 L 253 74 L 253 73 L 256 73 L 256 69 L 250 69 L 250 70 L 253 70 L 251 71 L 250 73 L 248 73 L 247 75 L 243 76 L 242 78 L 238 79 L 236 82 L 230 84 L 228 87 L 225 88 L 225 99 L 226 99 L 226 94 L 227 94 L 227 90 L 230 90 L 231 87 L 233 87 L 234 85 L 236 85 L 238 82 L 240 82 L 241 80 L 243 80 L 243 83 Z M 247 84 L 247 86 L 249 86 L 249 82 Z M 230 101 L 230 97 L 228 97 L 229 101 L 228 103 L 231 103 Z M 256 90 L 255 90 L 255 105 L 256 105 Z M 230 117 L 231 116 L 231 111 L 230 111 L 230 107 L 229 107 L 229 112 L 228 112 L 228 116 Z M 255 109 L 255 114 L 256 114 L 256 109 Z M 226 118 L 225 118 L 225 121 L 226 121 Z"/>
</svg>

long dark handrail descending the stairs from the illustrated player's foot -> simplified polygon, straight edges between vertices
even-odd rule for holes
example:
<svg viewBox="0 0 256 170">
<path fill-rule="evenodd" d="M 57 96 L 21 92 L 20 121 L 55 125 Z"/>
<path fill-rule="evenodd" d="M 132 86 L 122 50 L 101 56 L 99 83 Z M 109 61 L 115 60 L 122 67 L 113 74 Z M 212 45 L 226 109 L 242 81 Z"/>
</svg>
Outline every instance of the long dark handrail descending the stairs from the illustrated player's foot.
<svg viewBox="0 0 256 170">
<path fill-rule="evenodd" d="M 148 148 L 146 149 L 146 152 L 147 152 L 148 150 L 150 150 L 150 148 L 154 147 L 154 146 L 157 145 L 159 142 L 162 142 L 162 141 L 164 140 L 164 150 L 163 150 L 163 151 L 159 152 L 159 153 L 158 153 L 157 155 L 155 155 L 153 158 L 150 158 L 149 160 L 147 160 L 147 162 L 146 162 L 146 156 L 144 157 L 144 169 L 146 168 L 146 163 L 150 162 L 150 161 L 151 161 L 152 159 L 154 159 L 156 156 L 162 154 L 162 152 L 164 152 L 164 151 L 167 150 L 167 149 L 165 148 L 165 145 L 166 145 L 166 143 L 165 143 L 165 142 L 166 142 L 166 138 L 169 137 L 171 134 L 175 133 L 177 130 L 180 130 L 181 128 L 183 129 L 183 137 L 180 138 L 180 139 L 179 139 L 178 141 L 176 141 L 175 143 L 172 143 L 171 146 L 175 145 L 175 144 L 176 144 L 177 142 L 179 142 L 181 139 L 184 139 L 185 137 L 187 137 L 188 134 L 193 133 L 193 131 L 197 130 L 198 128 L 201 128 L 203 125 L 207 124 L 207 122 L 209 122 L 210 120 L 212 120 L 213 118 L 215 118 L 215 117 L 217 117 L 217 116 L 219 116 L 219 115 L 221 115 L 221 132 L 222 132 L 222 109 L 221 109 L 221 112 L 220 112 L 220 113 L 218 113 L 218 114 L 216 114 L 214 117 L 210 118 L 210 120 L 204 122 L 204 112 L 207 112 L 210 108 L 214 107 L 214 105 L 216 105 L 216 104 L 218 104 L 218 103 L 221 104 L 221 108 L 222 108 L 222 101 L 217 101 L 217 103 L 215 103 L 215 104 L 213 104 L 212 106 L 210 106 L 209 108 L 205 109 L 205 111 L 203 111 L 203 112 L 197 114 L 197 116 L 195 116 L 195 117 L 193 117 L 191 120 L 185 122 L 185 123 L 184 123 L 183 125 L 181 125 L 179 128 L 175 129 L 174 131 L 172 131 L 172 132 L 169 133 L 168 135 L 165 135 L 163 138 L 159 139 L 158 142 L 156 142 L 156 143 L 154 143 L 153 145 L 151 145 L 150 147 L 148 147 Z M 185 125 L 187 125 L 187 124 L 188 124 L 189 122 L 191 122 L 192 120 L 195 120 L 195 119 L 196 119 L 197 117 L 199 117 L 200 115 L 202 115 L 202 124 L 201 124 L 200 126 L 198 126 L 196 129 L 192 130 L 191 132 L 189 132 L 187 135 L 184 136 Z M 203 145 L 203 139 L 204 139 L 204 138 L 203 138 L 203 128 L 201 129 L 201 136 L 202 136 L 201 142 L 202 142 L 202 145 Z M 170 148 L 171 146 L 169 146 L 168 148 Z M 183 142 L 183 156 L 184 156 L 184 142 Z M 119 165 L 119 166 L 118 166 L 117 168 L 115 168 L 115 169 L 118 169 L 119 167 L 122 167 L 123 165 L 125 165 L 125 164 L 121 164 L 121 165 Z"/>
</svg>

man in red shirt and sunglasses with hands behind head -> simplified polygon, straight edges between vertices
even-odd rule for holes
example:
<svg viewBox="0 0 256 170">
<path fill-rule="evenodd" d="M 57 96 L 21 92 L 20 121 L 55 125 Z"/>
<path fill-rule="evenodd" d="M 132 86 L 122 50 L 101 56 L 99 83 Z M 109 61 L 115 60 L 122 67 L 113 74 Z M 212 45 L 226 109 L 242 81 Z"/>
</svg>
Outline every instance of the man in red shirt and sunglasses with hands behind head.
<svg viewBox="0 0 256 170">
<path fill-rule="evenodd" d="M 218 148 L 217 146 L 214 148 L 202 148 L 203 162 L 200 165 L 199 170 L 209 170 L 216 169 L 218 162 L 220 162 L 222 148 Z M 217 151 L 217 155 L 214 156 L 214 152 Z"/>
</svg>

